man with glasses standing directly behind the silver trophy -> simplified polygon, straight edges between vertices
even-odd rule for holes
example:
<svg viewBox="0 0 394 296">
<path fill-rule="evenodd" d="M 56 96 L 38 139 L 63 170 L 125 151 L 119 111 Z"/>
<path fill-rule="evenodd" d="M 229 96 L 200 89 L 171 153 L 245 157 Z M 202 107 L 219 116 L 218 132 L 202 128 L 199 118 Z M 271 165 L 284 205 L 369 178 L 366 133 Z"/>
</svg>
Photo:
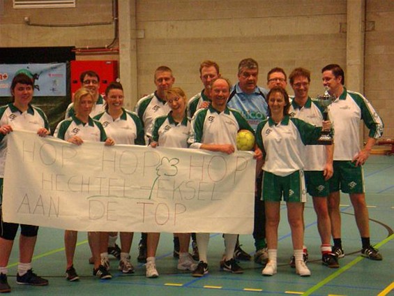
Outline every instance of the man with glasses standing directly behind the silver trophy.
<svg viewBox="0 0 394 296">
<path fill-rule="evenodd" d="M 332 96 L 319 96 L 316 101 L 308 96 L 310 86 L 310 71 L 305 68 L 295 68 L 289 75 L 289 82 L 294 90 L 289 114 L 291 117 L 321 126 L 321 121 L 328 120 L 328 105 Z M 324 107 L 324 108 L 322 108 Z M 312 196 L 313 207 L 317 215 L 317 229 L 321 238 L 321 263 L 330 268 L 338 268 L 338 258 L 331 250 L 331 221 L 328 214 L 328 179 L 333 175 L 333 138 L 329 131 L 322 131 L 319 138 L 321 145 L 305 147 L 305 186 Z"/>
</svg>

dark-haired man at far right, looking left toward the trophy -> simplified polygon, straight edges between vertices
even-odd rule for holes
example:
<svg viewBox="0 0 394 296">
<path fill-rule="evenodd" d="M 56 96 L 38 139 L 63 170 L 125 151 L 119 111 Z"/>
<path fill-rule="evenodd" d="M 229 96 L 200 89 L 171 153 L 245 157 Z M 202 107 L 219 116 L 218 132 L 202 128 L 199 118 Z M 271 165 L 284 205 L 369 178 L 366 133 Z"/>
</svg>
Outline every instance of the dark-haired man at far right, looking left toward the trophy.
<svg viewBox="0 0 394 296">
<path fill-rule="evenodd" d="M 377 249 L 370 244 L 368 209 L 365 202 L 362 165 L 370 156 L 377 138 L 383 134 L 384 124 L 367 99 L 344 87 L 344 71 L 337 64 L 325 66 L 322 70 L 323 86 L 335 101 L 328 106 L 335 131 L 333 153 L 333 177 L 329 180 L 328 210 L 331 217 L 333 253 L 339 258 L 344 256 L 341 242 L 340 191 L 349 193 L 354 207 L 356 224 L 361 235 L 361 254 L 371 260 L 382 260 Z M 359 124 L 363 119 L 370 130 L 368 140 L 360 149 Z"/>
</svg>

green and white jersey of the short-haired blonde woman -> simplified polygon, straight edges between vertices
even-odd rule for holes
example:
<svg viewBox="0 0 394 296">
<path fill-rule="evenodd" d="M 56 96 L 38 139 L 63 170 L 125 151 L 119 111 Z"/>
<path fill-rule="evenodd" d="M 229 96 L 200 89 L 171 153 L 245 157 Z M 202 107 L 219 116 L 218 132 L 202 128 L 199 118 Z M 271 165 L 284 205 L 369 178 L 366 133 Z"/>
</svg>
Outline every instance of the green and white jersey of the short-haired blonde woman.
<svg viewBox="0 0 394 296">
<path fill-rule="evenodd" d="M 84 141 L 105 142 L 107 135 L 103 125 L 89 117 L 89 122 L 84 124 L 74 115 L 69 119 L 60 121 L 54 131 L 54 137 L 67 141 L 77 135 Z"/>
</svg>

